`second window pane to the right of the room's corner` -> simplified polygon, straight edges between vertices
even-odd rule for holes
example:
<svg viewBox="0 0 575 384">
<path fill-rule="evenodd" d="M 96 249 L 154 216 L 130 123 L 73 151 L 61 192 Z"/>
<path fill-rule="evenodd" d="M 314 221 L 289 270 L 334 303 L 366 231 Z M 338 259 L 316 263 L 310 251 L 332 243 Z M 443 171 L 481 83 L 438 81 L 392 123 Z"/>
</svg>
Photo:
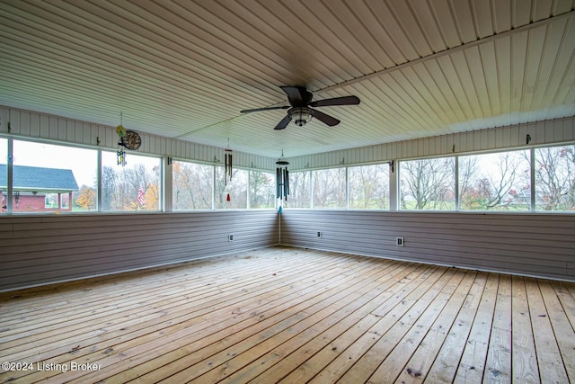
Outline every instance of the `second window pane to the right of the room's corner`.
<svg viewBox="0 0 575 384">
<path fill-rule="evenodd" d="M 345 168 L 314 171 L 314 208 L 345 208 Z"/>
</svg>

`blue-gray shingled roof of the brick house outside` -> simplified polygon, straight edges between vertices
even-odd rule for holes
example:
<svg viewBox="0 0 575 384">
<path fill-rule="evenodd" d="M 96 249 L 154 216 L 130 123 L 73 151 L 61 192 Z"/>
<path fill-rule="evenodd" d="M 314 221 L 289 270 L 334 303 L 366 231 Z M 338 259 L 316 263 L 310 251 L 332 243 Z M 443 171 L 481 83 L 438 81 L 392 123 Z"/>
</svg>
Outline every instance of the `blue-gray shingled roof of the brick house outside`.
<svg viewBox="0 0 575 384">
<path fill-rule="evenodd" d="M 7 166 L 0 164 L 0 187 L 8 185 L 6 174 Z M 78 191 L 78 184 L 71 169 L 13 165 L 13 190 L 70 192 Z"/>
</svg>

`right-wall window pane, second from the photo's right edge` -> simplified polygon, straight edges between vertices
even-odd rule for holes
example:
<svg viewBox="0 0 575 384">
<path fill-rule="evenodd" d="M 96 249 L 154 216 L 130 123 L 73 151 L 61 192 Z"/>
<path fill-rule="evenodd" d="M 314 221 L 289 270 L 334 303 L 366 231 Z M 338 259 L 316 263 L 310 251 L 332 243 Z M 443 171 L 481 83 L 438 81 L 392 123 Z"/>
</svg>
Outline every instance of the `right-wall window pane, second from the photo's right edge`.
<svg viewBox="0 0 575 384">
<path fill-rule="evenodd" d="M 459 157 L 461 210 L 530 210 L 529 151 Z"/>
</svg>

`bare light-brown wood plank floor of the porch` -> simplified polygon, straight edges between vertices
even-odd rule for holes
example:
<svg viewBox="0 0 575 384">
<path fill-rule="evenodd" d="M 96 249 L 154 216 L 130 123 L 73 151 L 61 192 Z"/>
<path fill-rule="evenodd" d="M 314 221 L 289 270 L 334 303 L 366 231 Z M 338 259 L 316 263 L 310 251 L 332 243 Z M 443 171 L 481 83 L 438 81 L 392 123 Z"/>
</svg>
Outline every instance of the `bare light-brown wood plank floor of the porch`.
<svg viewBox="0 0 575 384">
<path fill-rule="evenodd" d="M 572 282 L 275 247 L 0 294 L 0 382 L 569 383 L 574 328 Z"/>
</svg>

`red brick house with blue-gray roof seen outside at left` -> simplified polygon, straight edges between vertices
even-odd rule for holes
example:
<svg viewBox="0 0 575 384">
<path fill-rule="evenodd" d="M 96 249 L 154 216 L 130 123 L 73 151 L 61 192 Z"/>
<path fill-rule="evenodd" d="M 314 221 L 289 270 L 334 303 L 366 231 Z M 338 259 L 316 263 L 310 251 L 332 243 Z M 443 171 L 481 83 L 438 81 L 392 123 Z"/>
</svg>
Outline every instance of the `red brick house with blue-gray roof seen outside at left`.
<svg viewBox="0 0 575 384">
<path fill-rule="evenodd" d="M 0 165 L 2 211 L 7 207 L 6 165 Z M 72 210 L 72 192 L 78 184 L 70 169 L 13 165 L 14 212 Z"/>
</svg>

